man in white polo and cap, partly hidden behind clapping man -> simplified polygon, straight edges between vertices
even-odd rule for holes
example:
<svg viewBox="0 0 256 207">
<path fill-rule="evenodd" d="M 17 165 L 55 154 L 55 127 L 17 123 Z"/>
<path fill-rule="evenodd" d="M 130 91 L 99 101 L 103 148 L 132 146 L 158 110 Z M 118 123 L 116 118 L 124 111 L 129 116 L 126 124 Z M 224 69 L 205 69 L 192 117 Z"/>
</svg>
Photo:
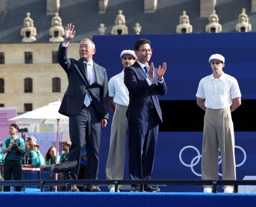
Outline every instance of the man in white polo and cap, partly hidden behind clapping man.
<svg viewBox="0 0 256 207">
<path fill-rule="evenodd" d="M 120 74 L 110 78 L 108 82 L 109 107 L 114 112 L 106 165 L 106 176 L 108 180 L 120 180 L 124 176 L 125 143 L 128 133 L 126 111 L 129 105 L 129 92 L 124 85 L 124 70 L 126 67 L 133 65 L 137 59 L 133 50 L 124 50 L 120 56 L 124 69 Z M 115 191 L 114 185 L 108 185 L 108 189 L 110 192 Z"/>
</svg>

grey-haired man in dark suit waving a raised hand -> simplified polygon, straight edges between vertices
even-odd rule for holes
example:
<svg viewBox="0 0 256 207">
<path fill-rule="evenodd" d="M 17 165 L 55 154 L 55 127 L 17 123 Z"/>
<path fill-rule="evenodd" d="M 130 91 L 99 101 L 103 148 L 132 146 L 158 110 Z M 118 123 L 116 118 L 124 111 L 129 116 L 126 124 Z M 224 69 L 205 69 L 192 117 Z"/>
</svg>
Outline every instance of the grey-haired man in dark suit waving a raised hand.
<svg viewBox="0 0 256 207">
<path fill-rule="evenodd" d="M 85 179 L 98 178 L 101 128 L 108 121 L 109 96 L 106 69 L 92 60 L 95 44 L 83 39 L 79 44 L 79 60 L 67 57 L 68 43 L 74 37 L 74 25 L 65 28 L 65 38 L 58 50 L 58 62 L 68 75 L 68 88 L 60 105 L 59 113 L 69 117 L 69 134 L 72 145 L 68 161 L 78 161 L 72 179 L 77 179 L 80 155 L 86 141 L 87 161 Z M 79 191 L 72 185 L 72 191 Z M 94 185 L 87 185 L 86 191 L 100 191 Z"/>
</svg>

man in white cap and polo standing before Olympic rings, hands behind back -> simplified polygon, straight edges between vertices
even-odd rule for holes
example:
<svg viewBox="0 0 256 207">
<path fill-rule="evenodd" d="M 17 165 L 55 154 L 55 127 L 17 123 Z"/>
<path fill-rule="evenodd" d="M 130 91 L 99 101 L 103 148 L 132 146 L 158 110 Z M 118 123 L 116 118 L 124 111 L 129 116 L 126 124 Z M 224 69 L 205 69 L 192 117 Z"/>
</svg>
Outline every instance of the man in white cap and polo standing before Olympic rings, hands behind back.
<svg viewBox="0 0 256 207">
<path fill-rule="evenodd" d="M 238 82 L 225 74 L 225 58 L 210 57 L 213 74 L 200 80 L 196 101 L 205 112 L 202 147 L 202 180 L 218 180 L 219 147 L 222 161 L 222 179 L 236 180 L 234 127 L 231 112 L 241 105 Z M 203 185 L 204 193 L 212 192 L 212 185 Z M 233 193 L 234 186 L 223 185 L 224 193 Z"/>
</svg>

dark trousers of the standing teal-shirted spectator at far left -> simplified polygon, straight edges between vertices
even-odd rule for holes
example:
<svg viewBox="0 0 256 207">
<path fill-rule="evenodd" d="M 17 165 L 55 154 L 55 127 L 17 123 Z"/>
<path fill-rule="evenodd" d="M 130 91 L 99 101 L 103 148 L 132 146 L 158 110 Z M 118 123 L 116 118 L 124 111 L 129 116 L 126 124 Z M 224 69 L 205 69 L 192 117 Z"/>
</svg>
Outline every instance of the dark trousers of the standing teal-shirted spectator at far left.
<svg viewBox="0 0 256 207">
<path fill-rule="evenodd" d="M 4 180 L 11 180 L 12 173 L 14 180 L 21 180 L 22 170 L 20 159 L 19 160 L 10 160 L 5 159 L 4 161 Z M 16 191 L 20 191 L 20 186 L 16 186 Z M 11 191 L 10 186 L 4 186 L 4 191 Z"/>
</svg>

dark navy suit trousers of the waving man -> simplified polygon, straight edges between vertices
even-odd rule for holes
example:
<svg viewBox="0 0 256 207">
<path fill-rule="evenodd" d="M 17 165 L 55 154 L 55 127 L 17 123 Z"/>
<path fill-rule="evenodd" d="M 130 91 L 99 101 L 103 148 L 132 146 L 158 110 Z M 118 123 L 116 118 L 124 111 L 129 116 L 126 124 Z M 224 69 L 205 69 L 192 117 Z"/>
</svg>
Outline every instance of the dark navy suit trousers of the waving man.
<svg viewBox="0 0 256 207">
<path fill-rule="evenodd" d="M 69 114 L 69 135 L 72 145 L 68 153 L 68 161 L 77 160 L 76 170 L 70 175 L 75 180 L 78 177 L 80 157 L 86 141 L 86 169 L 85 179 L 98 179 L 99 149 L 100 149 L 101 123 L 97 117 L 94 105 L 86 107 L 77 115 Z"/>
</svg>

